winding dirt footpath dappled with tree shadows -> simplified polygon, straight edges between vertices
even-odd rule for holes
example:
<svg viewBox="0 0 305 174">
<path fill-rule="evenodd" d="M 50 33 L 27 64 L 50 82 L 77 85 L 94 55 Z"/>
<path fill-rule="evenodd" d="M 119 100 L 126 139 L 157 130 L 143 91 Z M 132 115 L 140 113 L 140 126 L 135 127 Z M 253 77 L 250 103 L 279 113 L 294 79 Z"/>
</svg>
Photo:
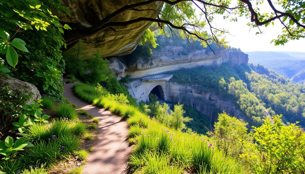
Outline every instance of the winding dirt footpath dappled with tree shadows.
<svg viewBox="0 0 305 174">
<path fill-rule="evenodd" d="M 67 79 L 63 81 L 66 82 Z M 127 123 L 121 117 L 109 111 L 95 107 L 77 98 L 73 91 L 75 83 L 64 86 L 64 97 L 75 103 L 78 108 L 84 109 L 99 119 L 99 135 L 93 152 L 88 156 L 84 165 L 83 174 L 121 174 L 127 167 L 126 161 L 131 152 L 128 147 Z"/>
</svg>

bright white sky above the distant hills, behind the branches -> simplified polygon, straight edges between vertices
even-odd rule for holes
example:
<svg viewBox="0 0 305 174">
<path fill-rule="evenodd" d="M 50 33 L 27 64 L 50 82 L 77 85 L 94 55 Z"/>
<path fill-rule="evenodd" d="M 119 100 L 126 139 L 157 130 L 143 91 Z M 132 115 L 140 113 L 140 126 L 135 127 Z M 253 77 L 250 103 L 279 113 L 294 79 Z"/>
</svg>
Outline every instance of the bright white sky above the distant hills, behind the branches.
<svg viewBox="0 0 305 174">
<path fill-rule="evenodd" d="M 233 0 L 234 1 L 234 0 Z M 270 9 L 269 5 L 260 6 L 260 9 L 265 12 Z M 200 10 L 198 10 L 200 11 Z M 278 34 L 282 33 L 282 25 L 276 20 L 274 26 L 261 26 L 260 29 L 264 34 L 256 35 L 257 28 L 250 28 L 246 24 L 249 19 L 239 17 L 237 22 L 223 20 L 223 15 L 214 16 L 214 23 L 217 28 L 227 29 L 230 34 L 225 34 L 230 46 L 240 48 L 242 51 L 300 51 L 305 52 L 305 39 L 289 41 L 284 46 L 274 46 L 270 43 L 272 39 L 277 38 Z"/>
</svg>

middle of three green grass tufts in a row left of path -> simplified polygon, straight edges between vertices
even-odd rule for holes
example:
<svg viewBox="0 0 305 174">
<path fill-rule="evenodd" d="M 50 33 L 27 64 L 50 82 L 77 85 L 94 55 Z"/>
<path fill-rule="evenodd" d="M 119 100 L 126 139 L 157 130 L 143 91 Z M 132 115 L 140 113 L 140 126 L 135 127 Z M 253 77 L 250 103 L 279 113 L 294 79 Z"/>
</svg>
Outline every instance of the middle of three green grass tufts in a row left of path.
<svg viewBox="0 0 305 174">
<path fill-rule="evenodd" d="M 59 138 L 62 136 L 69 136 L 72 132 L 69 123 L 64 120 L 57 120 L 51 123 L 49 128 L 50 135 L 52 138 Z"/>
</svg>

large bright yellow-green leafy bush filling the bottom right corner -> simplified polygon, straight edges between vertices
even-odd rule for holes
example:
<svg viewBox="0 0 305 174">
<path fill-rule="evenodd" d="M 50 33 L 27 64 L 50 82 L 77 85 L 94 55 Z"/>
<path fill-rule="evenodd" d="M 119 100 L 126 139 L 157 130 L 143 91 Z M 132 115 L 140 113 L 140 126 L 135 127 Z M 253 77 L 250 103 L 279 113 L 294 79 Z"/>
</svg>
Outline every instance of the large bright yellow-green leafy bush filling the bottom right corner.
<svg viewBox="0 0 305 174">
<path fill-rule="evenodd" d="M 285 126 L 282 115 L 264 120 L 260 127 L 253 127 L 253 148 L 240 157 L 254 173 L 304 173 L 305 133 L 296 123 Z M 298 123 L 298 122 L 297 122 Z"/>
</svg>

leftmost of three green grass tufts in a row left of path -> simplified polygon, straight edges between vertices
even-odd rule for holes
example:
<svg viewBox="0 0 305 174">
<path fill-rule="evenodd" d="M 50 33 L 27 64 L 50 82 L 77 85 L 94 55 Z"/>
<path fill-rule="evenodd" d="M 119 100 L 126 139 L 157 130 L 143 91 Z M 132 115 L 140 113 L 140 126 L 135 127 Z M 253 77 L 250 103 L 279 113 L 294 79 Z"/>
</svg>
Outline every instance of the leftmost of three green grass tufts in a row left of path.
<svg viewBox="0 0 305 174">
<path fill-rule="evenodd" d="M 34 123 L 29 126 L 25 133 L 20 133 L 23 137 L 25 137 L 28 141 L 42 141 L 47 140 L 51 137 L 51 134 L 48 130 L 48 126 L 43 123 Z"/>
</svg>

